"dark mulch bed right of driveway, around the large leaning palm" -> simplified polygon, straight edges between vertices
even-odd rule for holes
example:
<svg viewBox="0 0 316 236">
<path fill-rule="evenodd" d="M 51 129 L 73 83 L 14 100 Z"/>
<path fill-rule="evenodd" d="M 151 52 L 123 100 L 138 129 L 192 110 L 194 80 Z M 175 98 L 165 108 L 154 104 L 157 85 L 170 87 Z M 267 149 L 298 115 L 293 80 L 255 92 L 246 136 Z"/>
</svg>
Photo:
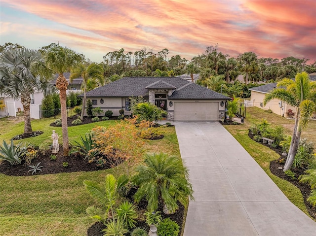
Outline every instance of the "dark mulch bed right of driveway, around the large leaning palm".
<svg viewBox="0 0 316 236">
<path fill-rule="evenodd" d="M 248 136 L 253 139 L 253 135 L 249 132 Z M 310 215 L 316 219 L 316 207 L 313 207 L 311 205 L 310 202 L 307 201 L 307 198 L 310 196 L 311 194 L 311 188 L 304 183 L 299 183 L 299 181 L 297 180 L 298 177 L 301 174 L 304 174 L 304 169 L 291 169 L 294 173 L 295 173 L 295 178 L 296 179 L 292 179 L 290 176 L 287 176 L 284 172 L 283 172 L 283 168 L 284 168 L 284 163 L 286 161 L 286 157 L 281 156 L 282 154 L 282 149 L 281 148 L 273 148 L 271 147 L 269 144 L 267 143 L 262 143 L 260 142 L 260 144 L 265 145 L 267 147 L 269 147 L 270 149 L 274 150 L 276 153 L 278 153 L 280 155 L 280 158 L 277 160 L 274 160 L 272 162 L 270 162 L 270 171 L 276 175 L 277 177 L 284 179 L 290 183 L 292 183 L 293 185 L 295 185 L 302 193 L 303 195 L 303 199 L 304 199 L 304 203 L 305 206 L 308 210 L 308 212 L 310 213 Z M 282 169 L 278 169 L 279 167 L 281 167 Z"/>
</svg>

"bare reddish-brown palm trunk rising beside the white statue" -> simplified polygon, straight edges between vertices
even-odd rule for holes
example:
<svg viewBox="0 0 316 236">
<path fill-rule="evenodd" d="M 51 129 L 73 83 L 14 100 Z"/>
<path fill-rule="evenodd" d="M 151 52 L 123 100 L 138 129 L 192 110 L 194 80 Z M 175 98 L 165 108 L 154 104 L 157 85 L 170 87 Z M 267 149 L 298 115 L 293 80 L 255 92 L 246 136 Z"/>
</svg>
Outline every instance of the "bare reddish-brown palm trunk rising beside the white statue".
<svg viewBox="0 0 316 236">
<path fill-rule="evenodd" d="M 63 74 L 60 74 L 56 80 L 56 87 L 59 89 L 60 108 L 61 108 L 61 127 L 63 133 L 64 156 L 69 155 L 68 125 L 67 125 L 67 104 L 66 89 L 68 82 Z"/>
</svg>

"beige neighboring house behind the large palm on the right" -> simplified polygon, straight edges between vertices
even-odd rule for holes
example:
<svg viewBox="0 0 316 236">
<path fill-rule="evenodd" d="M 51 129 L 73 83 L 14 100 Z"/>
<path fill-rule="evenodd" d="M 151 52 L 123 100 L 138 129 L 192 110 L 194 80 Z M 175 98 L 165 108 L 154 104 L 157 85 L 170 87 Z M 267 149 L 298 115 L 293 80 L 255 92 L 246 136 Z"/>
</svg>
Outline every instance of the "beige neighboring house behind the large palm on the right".
<svg viewBox="0 0 316 236">
<path fill-rule="evenodd" d="M 309 74 L 310 80 L 316 81 L 316 73 Z M 271 90 L 276 88 L 276 83 L 270 83 L 261 85 L 258 87 L 254 87 L 249 89 L 251 91 L 250 103 L 253 106 L 257 106 L 259 108 L 268 110 L 271 109 L 273 113 L 277 115 L 288 117 L 286 114 L 289 109 L 291 109 L 294 113 L 296 112 L 296 107 L 293 107 L 287 103 L 284 103 L 278 99 L 273 99 L 269 101 L 265 106 L 263 105 L 263 100 L 265 95 L 269 93 Z"/>
</svg>

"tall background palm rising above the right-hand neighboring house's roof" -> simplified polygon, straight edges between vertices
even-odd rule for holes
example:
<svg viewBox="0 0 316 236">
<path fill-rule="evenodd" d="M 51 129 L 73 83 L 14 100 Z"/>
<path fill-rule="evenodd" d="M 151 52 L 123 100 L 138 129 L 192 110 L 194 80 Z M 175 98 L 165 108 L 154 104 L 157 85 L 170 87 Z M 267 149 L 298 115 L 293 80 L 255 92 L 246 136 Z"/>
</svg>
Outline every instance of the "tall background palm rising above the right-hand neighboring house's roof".
<svg viewBox="0 0 316 236">
<path fill-rule="evenodd" d="M 239 70 L 246 72 L 245 82 L 248 84 L 249 73 L 256 72 L 259 69 L 257 55 L 253 52 L 245 52 L 237 57 Z"/>
</svg>

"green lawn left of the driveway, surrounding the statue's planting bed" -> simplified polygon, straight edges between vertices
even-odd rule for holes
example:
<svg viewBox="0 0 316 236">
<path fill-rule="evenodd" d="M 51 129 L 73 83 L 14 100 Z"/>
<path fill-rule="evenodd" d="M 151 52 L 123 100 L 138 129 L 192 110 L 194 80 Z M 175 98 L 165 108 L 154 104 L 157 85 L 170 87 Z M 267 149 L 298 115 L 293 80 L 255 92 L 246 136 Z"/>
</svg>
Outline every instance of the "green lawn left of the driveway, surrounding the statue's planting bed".
<svg viewBox="0 0 316 236">
<path fill-rule="evenodd" d="M 34 131 L 44 134 L 18 141 L 40 145 L 51 140 L 52 130 L 60 135 L 61 128 L 49 126 L 55 119 L 32 120 Z M 15 119 L 0 120 L 0 139 L 9 140 L 23 133 L 24 122 Z M 71 140 L 79 140 L 96 125 L 111 126 L 115 121 L 101 121 L 93 124 L 69 127 Z M 146 140 L 149 152 L 169 152 L 180 157 L 179 145 L 174 127 L 164 128 L 165 137 L 160 140 Z M 1 141 L 2 142 L 2 141 Z M 92 172 L 73 172 L 34 176 L 6 176 L 0 174 L 0 236 L 83 236 L 95 223 L 85 209 L 96 202 L 86 193 L 82 184 L 88 179 L 101 183 L 106 174 L 117 176 L 118 168 Z"/>
</svg>

